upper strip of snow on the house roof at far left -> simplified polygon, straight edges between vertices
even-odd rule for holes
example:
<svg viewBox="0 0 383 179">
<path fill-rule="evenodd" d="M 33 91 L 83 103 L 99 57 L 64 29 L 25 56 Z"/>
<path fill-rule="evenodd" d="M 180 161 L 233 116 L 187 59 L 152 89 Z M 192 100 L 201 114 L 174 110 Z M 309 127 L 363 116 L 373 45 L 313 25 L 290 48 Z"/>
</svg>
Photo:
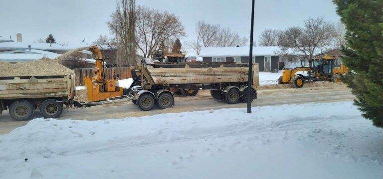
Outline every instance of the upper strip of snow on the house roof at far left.
<svg viewBox="0 0 383 179">
<path fill-rule="evenodd" d="M 39 50 L 73 50 L 76 48 L 82 48 L 91 46 L 89 44 L 75 44 L 63 46 L 58 43 L 29 43 L 29 42 L 3 42 L 0 43 L 0 50 L 16 50 L 16 49 L 28 49 L 28 45 L 30 45 L 31 49 L 39 49 Z"/>
</svg>

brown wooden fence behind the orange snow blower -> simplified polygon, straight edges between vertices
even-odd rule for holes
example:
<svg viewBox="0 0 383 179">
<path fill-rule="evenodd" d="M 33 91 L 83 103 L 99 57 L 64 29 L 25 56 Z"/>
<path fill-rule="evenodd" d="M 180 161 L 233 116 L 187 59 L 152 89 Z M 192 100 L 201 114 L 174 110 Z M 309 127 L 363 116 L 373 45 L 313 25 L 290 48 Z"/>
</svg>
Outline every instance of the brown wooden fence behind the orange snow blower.
<svg viewBox="0 0 383 179">
<path fill-rule="evenodd" d="M 127 79 L 132 77 L 132 68 L 133 67 L 119 67 L 119 68 L 104 68 L 106 74 L 105 79 L 113 79 L 113 75 L 120 74 L 119 79 Z M 72 69 L 76 74 L 76 86 L 84 86 L 84 77 L 88 76 L 92 78 L 93 71 L 92 68 L 79 68 Z"/>
</svg>

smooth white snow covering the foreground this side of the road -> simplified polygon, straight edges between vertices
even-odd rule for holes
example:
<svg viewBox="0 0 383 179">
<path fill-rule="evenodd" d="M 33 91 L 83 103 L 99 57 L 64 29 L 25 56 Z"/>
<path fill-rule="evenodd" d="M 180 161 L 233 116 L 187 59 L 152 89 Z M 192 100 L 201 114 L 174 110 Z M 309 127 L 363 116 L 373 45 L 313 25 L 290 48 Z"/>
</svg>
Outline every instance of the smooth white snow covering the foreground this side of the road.
<svg viewBox="0 0 383 179">
<path fill-rule="evenodd" d="M 383 178 L 383 131 L 352 102 L 252 112 L 35 119 L 0 136 L 0 178 Z"/>
</svg>

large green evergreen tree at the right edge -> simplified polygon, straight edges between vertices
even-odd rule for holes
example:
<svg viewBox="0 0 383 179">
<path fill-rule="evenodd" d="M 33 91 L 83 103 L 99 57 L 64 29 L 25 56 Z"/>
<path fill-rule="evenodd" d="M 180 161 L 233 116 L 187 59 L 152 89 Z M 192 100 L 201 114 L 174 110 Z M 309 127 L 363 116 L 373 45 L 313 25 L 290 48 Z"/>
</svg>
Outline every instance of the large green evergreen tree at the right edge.
<svg viewBox="0 0 383 179">
<path fill-rule="evenodd" d="M 333 0 L 346 25 L 345 83 L 363 117 L 383 128 L 383 0 Z"/>
</svg>

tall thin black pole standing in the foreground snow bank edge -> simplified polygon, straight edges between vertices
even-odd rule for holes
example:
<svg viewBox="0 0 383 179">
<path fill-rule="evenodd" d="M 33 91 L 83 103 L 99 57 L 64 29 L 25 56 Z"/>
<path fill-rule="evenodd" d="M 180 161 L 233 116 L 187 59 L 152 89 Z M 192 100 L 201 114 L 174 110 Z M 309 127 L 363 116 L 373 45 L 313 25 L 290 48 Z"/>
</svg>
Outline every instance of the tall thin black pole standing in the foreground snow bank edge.
<svg viewBox="0 0 383 179">
<path fill-rule="evenodd" d="M 249 52 L 249 81 L 247 82 L 247 113 L 251 113 L 252 84 L 253 84 L 253 31 L 254 31 L 254 1 L 251 5 L 251 27 L 250 27 L 250 52 Z"/>
</svg>

